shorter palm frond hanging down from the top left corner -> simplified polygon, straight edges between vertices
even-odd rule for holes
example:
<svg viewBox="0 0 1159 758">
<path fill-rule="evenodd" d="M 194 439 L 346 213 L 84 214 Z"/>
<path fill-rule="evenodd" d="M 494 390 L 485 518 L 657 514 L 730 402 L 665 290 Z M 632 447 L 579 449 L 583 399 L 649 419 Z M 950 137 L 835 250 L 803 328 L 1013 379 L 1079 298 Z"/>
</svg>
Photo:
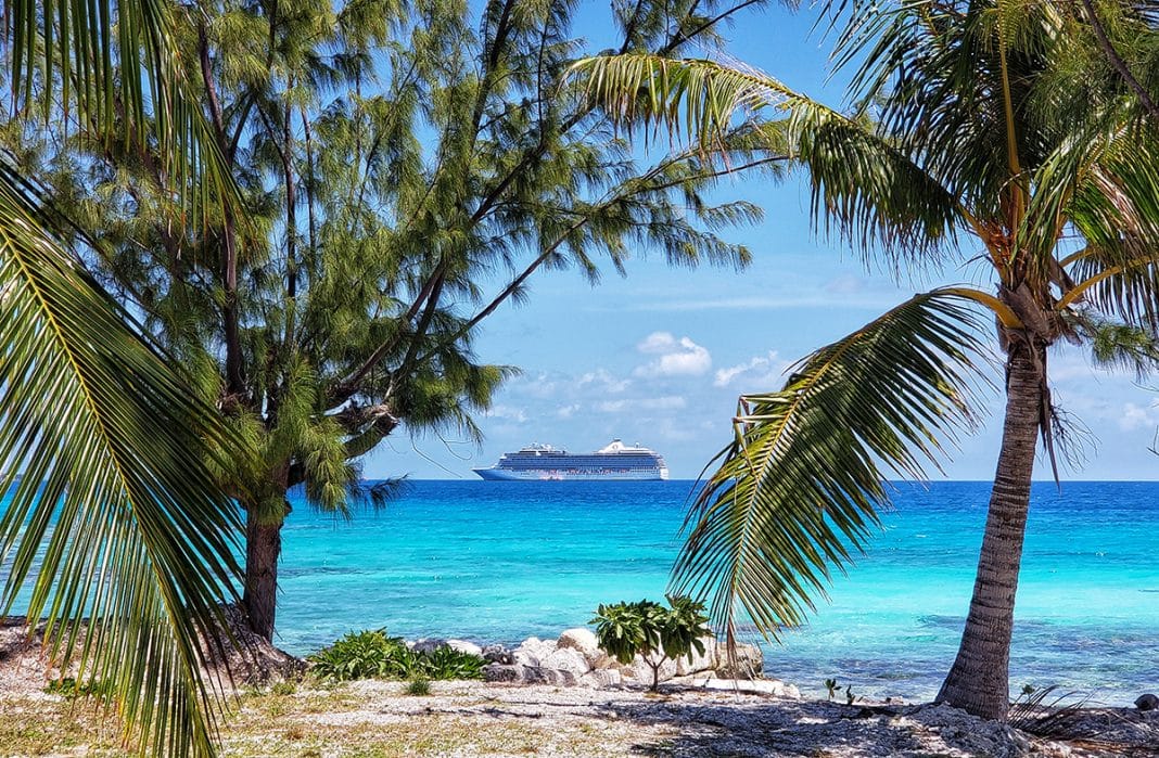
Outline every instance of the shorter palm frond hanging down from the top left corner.
<svg viewBox="0 0 1159 758">
<path fill-rule="evenodd" d="M 168 0 L 5 0 L 12 102 L 59 118 L 107 146 L 150 150 L 192 224 L 235 202 L 226 168 L 176 44 Z M 196 9 L 190 10 L 197 13 Z"/>
</svg>

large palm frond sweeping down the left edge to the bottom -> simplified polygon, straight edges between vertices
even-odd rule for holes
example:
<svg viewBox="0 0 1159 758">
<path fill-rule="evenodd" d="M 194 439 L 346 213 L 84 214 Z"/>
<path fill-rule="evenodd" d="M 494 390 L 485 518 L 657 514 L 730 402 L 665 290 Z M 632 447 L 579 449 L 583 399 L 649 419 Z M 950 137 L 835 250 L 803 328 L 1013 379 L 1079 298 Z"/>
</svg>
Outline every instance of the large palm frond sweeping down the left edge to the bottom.
<svg viewBox="0 0 1159 758">
<path fill-rule="evenodd" d="M 241 524 L 206 472 L 245 451 L 27 201 L 0 173 L 0 613 L 27 603 L 143 751 L 210 756 Z"/>
</svg>

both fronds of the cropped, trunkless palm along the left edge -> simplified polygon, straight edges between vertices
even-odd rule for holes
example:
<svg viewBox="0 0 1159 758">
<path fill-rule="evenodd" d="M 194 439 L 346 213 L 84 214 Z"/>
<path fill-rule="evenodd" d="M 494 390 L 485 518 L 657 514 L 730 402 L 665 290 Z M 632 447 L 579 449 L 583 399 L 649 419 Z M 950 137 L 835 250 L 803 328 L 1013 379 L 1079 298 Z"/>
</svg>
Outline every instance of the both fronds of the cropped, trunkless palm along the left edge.
<svg viewBox="0 0 1159 758">
<path fill-rule="evenodd" d="M 5 73 L 29 129 L 63 110 L 99 144 L 154 134 L 197 219 L 231 184 L 183 96 L 170 13 L 8 0 Z M 70 252 L 80 234 L 0 156 L 2 613 L 27 605 L 29 633 L 43 622 L 143 750 L 207 756 L 223 702 L 202 668 L 239 577 L 216 471 L 247 453 Z"/>
</svg>

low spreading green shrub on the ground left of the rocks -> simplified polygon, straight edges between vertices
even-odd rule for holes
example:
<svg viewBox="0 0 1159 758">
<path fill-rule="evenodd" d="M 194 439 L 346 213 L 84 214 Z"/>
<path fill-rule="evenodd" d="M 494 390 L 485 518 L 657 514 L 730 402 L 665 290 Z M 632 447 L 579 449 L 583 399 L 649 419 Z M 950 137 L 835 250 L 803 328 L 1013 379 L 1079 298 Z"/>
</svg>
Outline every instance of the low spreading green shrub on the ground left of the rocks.
<svg viewBox="0 0 1159 758">
<path fill-rule="evenodd" d="M 482 679 L 481 657 L 440 646 L 415 653 L 386 629 L 351 632 L 307 657 L 320 679 Z"/>
</svg>

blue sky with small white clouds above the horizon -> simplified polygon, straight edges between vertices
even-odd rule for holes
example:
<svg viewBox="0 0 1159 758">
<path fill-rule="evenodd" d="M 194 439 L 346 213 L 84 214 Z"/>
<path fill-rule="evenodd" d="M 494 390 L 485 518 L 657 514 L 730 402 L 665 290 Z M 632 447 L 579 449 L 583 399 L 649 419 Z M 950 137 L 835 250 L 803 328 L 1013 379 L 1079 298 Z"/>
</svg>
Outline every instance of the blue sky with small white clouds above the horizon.
<svg viewBox="0 0 1159 758">
<path fill-rule="evenodd" d="M 595 50 L 602 46 L 605 9 L 605 3 L 589 3 L 581 19 Z M 838 104 L 841 87 L 826 83 L 829 45 L 810 35 L 812 22 L 808 12 L 749 14 L 724 30 L 728 50 Z M 950 268 L 901 286 L 882 271 L 868 271 L 859 255 L 810 233 L 808 189 L 800 176 L 779 185 L 726 180 L 717 197 L 748 199 L 765 210 L 761 224 L 723 233 L 752 249 L 748 269 L 670 269 L 661 255 L 641 254 L 628 263 L 626 278 L 608 269 L 595 287 L 576 271 L 538 274 L 529 303 L 503 307 L 478 337 L 480 359 L 523 370 L 479 418 L 482 447 L 455 436 L 396 433 L 365 459 L 364 475 L 473 479 L 472 467 L 489 466 L 503 452 L 533 442 L 586 452 L 619 437 L 661 452 L 673 478 L 692 479 L 730 439 L 741 393 L 779 388 L 793 360 L 913 292 L 957 282 L 990 286 L 977 267 Z M 961 260 L 971 255 L 963 250 Z M 1149 480 L 1159 474 L 1159 457 L 1149 450 L 1159 429 L 1159 393 L 1134 376 L 1092 369 L 1073 348 L 1051 355 L 1051 374 L 1056 402 L 1094 440 L 1087 462 L 1064 471 L 1065 478 Z M 997 372 L 994 380 L 1000 381 Z M 992 476 L 1000 411 L 996 391 L 984 428 L 958 440 L 943 461 L 945 476 Z M 1036 476 L 1050 476 L 1041 459 Z"/>
</svg>

